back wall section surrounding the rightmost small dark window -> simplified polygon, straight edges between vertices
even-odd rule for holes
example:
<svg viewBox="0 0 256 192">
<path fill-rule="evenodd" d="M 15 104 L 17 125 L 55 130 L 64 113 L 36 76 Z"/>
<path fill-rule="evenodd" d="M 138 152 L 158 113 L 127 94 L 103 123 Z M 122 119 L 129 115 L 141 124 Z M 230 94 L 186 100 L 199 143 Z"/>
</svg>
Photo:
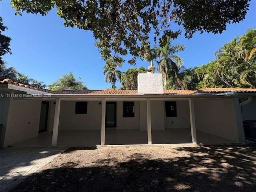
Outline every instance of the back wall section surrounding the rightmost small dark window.
<svg viewBox="0 0 256 192">
<path fill-rule="evenodd" d="M 164 104 L 165 106 L 165 104 Z M 164 108 L 165 128 L 190 128 L 190 114 L 188 101 L 176 101 L 177 117 L 166 117 Z M 173 122 L 173 123 L 172 123 Z"/>
</svg>

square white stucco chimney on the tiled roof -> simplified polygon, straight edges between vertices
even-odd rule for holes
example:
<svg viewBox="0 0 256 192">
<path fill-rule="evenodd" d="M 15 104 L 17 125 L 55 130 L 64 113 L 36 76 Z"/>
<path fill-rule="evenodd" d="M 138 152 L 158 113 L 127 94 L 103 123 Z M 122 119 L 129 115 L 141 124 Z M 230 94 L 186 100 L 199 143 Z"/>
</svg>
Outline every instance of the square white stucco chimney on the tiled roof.
<svg viewBox="0 0 256 192">
<path fill-rule="evenodd" d="M 138 94 L 163 94 L 163 80 L 160 73 L 138 74 Z"/>
</svg>

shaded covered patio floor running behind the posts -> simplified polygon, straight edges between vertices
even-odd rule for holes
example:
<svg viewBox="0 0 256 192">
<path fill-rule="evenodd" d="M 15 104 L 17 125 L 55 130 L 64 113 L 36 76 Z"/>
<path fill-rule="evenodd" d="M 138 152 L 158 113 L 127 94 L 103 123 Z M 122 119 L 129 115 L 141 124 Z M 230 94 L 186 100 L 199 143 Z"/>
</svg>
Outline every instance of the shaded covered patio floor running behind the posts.
<svg viewBox="0 0 256 192">
<path fill-rule="evenodd" d="M 57 146 L 96 146 L 100 145 L 100 130 L 59 131 Z M 196 130 L 198 144 L 229 144 L 233 140 L 222 138 Z M 190 129 L 167 129 L 152 131 L 152 144 L 187 144 L 192 143 Z M 106 129 L 105 145 L 148 144 L 147 131 Z M 52 132 L 40 133 L 22 142 L 12 144 L 12 147 L 50 147 Z"/>
</svg>

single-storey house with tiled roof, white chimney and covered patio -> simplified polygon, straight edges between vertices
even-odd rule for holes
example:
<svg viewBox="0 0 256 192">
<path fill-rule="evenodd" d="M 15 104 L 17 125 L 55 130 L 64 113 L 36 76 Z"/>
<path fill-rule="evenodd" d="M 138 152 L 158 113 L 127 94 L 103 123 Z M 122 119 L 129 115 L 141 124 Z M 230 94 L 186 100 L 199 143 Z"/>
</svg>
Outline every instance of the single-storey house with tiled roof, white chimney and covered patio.
<svg viewBox="0 0 256 192">
<path fill-rule="evenodd" d="M 256 89 L 162 90 L 161 74 L 139 74 L 138 90 L 0 86 L 1 147 L 244 144 L 256 120 Z"/>
</svg>

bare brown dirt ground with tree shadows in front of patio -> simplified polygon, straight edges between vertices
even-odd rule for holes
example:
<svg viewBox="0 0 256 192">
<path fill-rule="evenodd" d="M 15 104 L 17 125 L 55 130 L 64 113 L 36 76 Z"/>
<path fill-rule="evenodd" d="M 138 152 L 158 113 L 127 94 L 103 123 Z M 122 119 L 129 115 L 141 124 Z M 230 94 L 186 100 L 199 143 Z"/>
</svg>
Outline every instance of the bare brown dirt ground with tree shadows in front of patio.
<svg viewBox="0 0 256 192">
<path fill-rule="evenodd" d="M 255 192 L 256 146 L 69 148 L 11 192 Z"/>
</svg>

